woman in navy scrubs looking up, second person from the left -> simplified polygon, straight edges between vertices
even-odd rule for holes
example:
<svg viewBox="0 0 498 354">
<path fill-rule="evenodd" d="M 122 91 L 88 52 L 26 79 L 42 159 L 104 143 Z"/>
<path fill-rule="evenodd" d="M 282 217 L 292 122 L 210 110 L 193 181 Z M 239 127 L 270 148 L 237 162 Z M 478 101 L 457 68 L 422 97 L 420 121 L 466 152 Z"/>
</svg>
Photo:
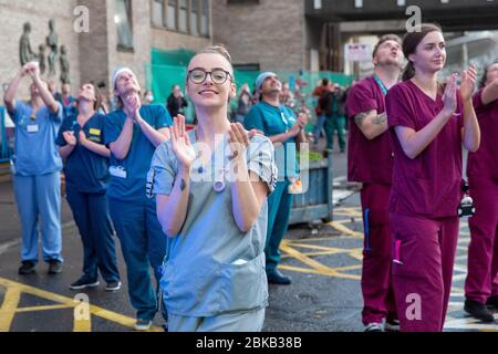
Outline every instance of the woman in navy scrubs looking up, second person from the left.
<svg viewBox="0 0 498 354">
<path fill-rule="evenodd" d="M 101 272 L 106 291 L 121 289 L 116 247 L 105 195 L 110 150 L 103 145 L 105 115 L 96 113 L 101 97 L 92 84 L 77 95 L 77 110 L 68 111 L 56 144 L 64 159 L 66 198 L 83 242 L 83 275 L 70 289 L 98 285 Z"/>
</svg>

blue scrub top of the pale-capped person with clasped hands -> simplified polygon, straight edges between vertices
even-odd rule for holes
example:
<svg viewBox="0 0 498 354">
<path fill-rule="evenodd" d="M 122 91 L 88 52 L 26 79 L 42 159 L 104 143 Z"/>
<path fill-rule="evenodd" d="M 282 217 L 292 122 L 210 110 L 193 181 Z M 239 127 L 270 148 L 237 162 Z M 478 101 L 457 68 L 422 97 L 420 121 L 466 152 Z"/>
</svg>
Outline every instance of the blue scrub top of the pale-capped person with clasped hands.
<svg viewBox="0 0 498 354">
<path fill-rule="evenodd" d="M 173 124 L 172 116 L 163 105 L 142 106 L 141 115 L 156 131 Z M 110 146 L 120 137 L 126 114 L 122 110 L 114 111 L 104 122 L 104 144 Z M 111 184 L 107 196 L 125 201 L 144 199 L 147 173 L 155 150 L 155 146 L 142 133 L 141 127 L 134 124 L 132 144 L 126 158 L 117 159 L 111 154 Z"/>
</svg>

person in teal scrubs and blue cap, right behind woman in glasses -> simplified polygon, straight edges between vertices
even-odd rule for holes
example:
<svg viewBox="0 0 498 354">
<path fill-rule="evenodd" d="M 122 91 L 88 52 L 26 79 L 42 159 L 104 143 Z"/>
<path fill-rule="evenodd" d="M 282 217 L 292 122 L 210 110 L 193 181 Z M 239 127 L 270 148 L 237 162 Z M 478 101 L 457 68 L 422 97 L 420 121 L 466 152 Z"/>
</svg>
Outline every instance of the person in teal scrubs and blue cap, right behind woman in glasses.
<svg viewBox="0 0 498 354">
<path fill-rule="evenodd" d="M 260 102 L 252 106 L 243 124 L 247 129 L 257 129 L 268 136 L 276 145 L 276 157 L 280 174 L 276 190 L 268 199 L 268 236 L 267 236 L 267 275 L 273 284 L 288 285 L 290 277 L 278 269 L 280 263 L 280 242 L 287 232 L 292 208 L 292 195 L 289 192 L 290 178 L 297 175 L 297 144 L 307 140 L 304 126 L 307 118 L 280 104 L 282 83 L 277 74 L 264 72 L 256 81 L 256 90 Z"/>
</svg>

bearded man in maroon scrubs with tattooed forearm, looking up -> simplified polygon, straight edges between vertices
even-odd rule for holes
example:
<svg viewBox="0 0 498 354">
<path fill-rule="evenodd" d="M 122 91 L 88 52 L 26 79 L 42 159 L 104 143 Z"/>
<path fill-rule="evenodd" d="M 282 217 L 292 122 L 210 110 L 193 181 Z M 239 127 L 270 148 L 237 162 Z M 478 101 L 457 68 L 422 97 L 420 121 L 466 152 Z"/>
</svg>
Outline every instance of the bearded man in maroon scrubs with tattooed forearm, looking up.
<svg viewBox="0 0 498 354">
<path fill-rule="evenodd" d="M 391 275 L 388 196 L 393 150 L 387 132 L 385 95 L 400 80 L 404 59 L 401 38 L 383 35 L 372 56 L 374 74 L 359 82 L 347 95 L 346 106 L 351 119 L 347 178 L 363 184 L 363 324 L 367 332 L 381 332 L 384 327 L 398 327 Z"/>
</svg>

